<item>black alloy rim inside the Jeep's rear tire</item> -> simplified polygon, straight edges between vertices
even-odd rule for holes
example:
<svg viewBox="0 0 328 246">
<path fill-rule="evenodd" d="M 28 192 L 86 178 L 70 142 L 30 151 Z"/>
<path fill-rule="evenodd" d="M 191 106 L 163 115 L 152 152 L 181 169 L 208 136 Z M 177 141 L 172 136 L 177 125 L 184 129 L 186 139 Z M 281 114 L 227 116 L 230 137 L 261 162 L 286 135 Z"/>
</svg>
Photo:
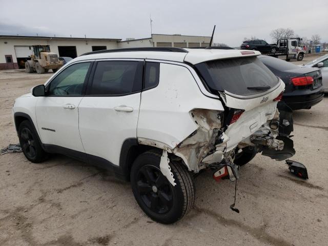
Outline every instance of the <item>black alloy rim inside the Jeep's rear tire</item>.
<svg viewBox="0 0 328 246">
<path fill-rule="evenodd" d="M 169 180 L 154 166 L 142 167 L 137 174 L 137 189 L 142 201 L 156 214 L 172 209 L 173 194 Z"/>
</svg>

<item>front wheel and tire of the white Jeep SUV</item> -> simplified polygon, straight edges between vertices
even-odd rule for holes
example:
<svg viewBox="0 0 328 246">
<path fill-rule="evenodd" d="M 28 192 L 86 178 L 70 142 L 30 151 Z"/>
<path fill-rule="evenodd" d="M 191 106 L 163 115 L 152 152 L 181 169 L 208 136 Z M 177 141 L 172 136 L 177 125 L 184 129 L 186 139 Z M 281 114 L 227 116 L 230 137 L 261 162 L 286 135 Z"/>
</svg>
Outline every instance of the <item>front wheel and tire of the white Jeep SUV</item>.
<svg viewBox="0 0 328 246">
<path fill-rule="evenodd" d="M 30 121 L 24 120 L 18 127 L 19 144 L 25 157 L 34 163 L 44 161 L 48 154 L 42 149 L 37 133 L 34 131 Z"/>
</svg>

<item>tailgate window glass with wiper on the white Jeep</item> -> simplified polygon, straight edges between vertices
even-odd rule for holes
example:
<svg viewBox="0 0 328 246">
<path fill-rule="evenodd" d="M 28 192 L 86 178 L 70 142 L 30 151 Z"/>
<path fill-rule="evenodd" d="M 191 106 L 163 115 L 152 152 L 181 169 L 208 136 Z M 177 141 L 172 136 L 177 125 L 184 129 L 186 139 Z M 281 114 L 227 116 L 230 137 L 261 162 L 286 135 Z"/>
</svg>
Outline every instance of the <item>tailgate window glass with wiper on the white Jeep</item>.
<svg viewBox="0 0 328 246">
<path fill-rule="evenodd" d="M 257 57 L 211 60 L 196 65 L 205 83 L 212 90 L 227 91 L 236 95 L 248 96 L 273 88 L 278 78 Z"/>
</svg>

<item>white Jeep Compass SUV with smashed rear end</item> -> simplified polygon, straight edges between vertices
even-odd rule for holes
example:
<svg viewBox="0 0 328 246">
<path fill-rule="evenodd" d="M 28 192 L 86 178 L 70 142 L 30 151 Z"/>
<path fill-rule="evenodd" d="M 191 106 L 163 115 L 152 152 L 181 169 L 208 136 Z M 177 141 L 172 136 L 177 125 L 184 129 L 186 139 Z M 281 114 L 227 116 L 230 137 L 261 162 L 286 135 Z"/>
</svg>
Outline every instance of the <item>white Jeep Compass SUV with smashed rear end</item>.
<svg viewBox="0 0 328 246">
<path fill-rule="evenodd" d="M 193 176 L 238 178 L 256 153 L 295 154 L 284 83 L 258 51 L 135 48 L 81 55 L 15 100 L 27 159 L 61 153 L 131 181 L 139 206 L 172 223 L 193 206 Z M 280 112 L 280 113 L 279 113 Z"/>
</svg>

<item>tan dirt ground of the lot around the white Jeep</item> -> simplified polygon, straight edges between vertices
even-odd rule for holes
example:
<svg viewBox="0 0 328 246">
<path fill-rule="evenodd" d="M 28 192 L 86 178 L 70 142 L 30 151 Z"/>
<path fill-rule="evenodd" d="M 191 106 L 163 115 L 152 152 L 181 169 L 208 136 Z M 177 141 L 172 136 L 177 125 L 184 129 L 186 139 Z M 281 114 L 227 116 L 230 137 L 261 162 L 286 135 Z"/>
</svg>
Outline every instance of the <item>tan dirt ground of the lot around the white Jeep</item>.
<svg viewBox="0 0 328 246">
<path fill-rule="evenodd" d="M 0 71 L 1 148 L 18 142 L 14 98 L 51 74 Z M 292 176 L 284 161 L 257 155 L 240 169 L 239 214 L 229 209 L 234 183 L 216 183 L 206 172 L 195 179 L 194 209 L 171 225 L 149 219 L 130 183 L 111 173 L 61 155 L 39 164 L 23 153 L 2 155 L 0 245 L 327 245 L 327 107 L 326 96 L 294 113 L 292 159 L 304 163 L 309 180 Z"/>
</svg>

